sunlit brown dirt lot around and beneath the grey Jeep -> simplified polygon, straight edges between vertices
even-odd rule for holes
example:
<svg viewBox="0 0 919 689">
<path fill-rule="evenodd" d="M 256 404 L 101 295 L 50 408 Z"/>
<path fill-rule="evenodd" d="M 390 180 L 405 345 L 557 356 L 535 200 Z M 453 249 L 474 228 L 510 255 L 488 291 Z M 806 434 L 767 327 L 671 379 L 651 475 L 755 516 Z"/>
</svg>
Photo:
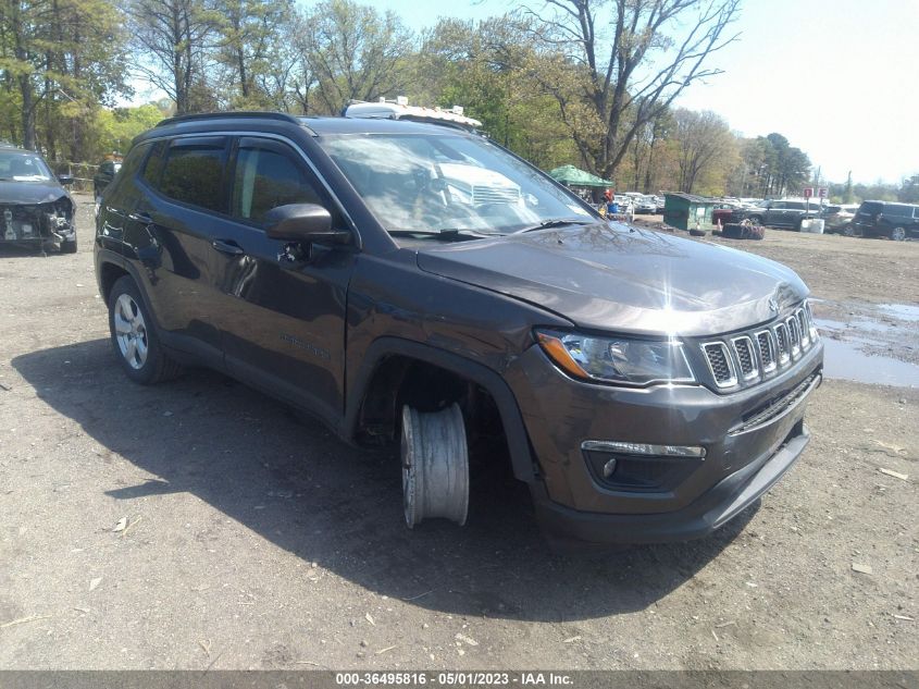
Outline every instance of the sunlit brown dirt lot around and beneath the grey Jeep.
<svg viewBox="0 0 919 689">
<path fill-rule="evenodd" d="M 410 532 L 392 457 L 214 373 L 129 383 L 90 218 L 74 256 L 0 255 L 0 668 L 917 667 L 916 387 L 828 380 L 795 469 L 705 541 L 562 557 L 512 487 Z M 916 309 L 919 243 L 733 245 L 824 299 L 840 374 L 919 369 L 881 306 Z"/>
</svg>

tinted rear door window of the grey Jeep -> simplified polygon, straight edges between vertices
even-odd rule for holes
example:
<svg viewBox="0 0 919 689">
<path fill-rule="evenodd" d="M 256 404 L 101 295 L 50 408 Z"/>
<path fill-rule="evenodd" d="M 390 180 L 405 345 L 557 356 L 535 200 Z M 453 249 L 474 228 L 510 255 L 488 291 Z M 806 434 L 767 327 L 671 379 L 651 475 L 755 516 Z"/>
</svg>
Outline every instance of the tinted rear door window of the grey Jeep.
<svg viewBox="0 0 919 689">
<path fill-rule="evenodd" d="M 171 146 L 159 189 L 176 201 L 223 210 L 223 144 Z"/>
</svg>

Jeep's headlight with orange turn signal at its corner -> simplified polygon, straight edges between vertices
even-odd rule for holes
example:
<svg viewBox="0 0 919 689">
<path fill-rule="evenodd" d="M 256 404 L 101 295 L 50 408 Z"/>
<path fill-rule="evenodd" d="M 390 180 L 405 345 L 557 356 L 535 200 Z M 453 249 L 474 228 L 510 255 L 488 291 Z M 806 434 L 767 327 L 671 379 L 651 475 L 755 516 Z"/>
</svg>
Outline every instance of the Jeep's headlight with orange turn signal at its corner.
<svg viewBox="0 0 919 689">
<path fill-rule="evenodd" d="M 537 330 L 536 337 L 549 358 L 575 378 L 630 385 L 696 380 L 676 340 L 599 337 L 548 330 Z"/>
</svg>

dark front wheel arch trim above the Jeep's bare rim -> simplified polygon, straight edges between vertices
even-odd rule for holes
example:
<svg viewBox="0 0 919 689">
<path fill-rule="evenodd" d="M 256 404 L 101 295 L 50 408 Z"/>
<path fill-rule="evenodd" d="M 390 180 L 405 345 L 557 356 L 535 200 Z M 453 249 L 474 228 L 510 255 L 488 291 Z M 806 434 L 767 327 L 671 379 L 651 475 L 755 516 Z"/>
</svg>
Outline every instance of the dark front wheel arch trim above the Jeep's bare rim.
<svg viewBox="0 0 919 689">
<path fill-rule="evenodd" d="M 343 430 L 349 440 L 353 441 L 360 435 L 368 405 L 376 405 L 375 409 L 384 415 L 387 422 L 390 418 L 395 422 L 393 417 L 398 414 L 397 397 L 412 367 L 422 367 L 422 370 L 433 367 L 459 381 L 477 385 L 487 393 L 497 407 L 504 427 L 514 477 L 526 483 L 536 480 L 537 470 L 523 417 L 513 393 L 500 374 L 451 352 L 398 337 L 374 341 L 368 347 L 353 382 L 348 386 Z M 387 405 L 389 408 L 384 408 Z"/>
</svg>

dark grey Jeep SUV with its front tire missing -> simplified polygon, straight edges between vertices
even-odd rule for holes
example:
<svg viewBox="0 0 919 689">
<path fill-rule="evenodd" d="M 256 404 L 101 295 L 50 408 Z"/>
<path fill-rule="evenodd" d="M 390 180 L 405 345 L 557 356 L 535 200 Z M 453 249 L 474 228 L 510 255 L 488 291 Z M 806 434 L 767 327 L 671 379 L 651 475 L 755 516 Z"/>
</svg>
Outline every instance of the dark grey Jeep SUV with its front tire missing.
<svg viewBox="0 0 919 689">
<path fill-rule="evenodd" d="M 209 366 L 400 447 L 409 526 L 465 521 L 492 436 L 551 537 L 701 537 L 809 439 L 823 346 L 792 270 L 605 222 L 445 125 L 167 120 L 107 190 L 95 260 L 128 378 Z"/>
</svg>

